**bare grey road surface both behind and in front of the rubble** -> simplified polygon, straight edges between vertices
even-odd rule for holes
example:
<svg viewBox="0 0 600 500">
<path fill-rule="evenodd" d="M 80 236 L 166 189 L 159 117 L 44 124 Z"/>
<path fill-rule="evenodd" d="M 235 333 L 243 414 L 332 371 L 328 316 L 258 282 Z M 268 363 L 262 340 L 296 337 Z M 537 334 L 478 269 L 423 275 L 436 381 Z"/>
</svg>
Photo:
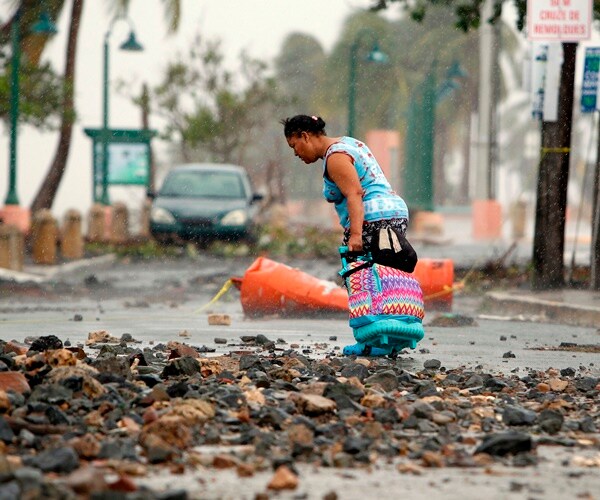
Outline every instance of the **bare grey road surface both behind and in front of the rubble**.
<svg viewBox="0 0 600 500">
<path fill-rule="evenodd" d="M 314 356 L 338 354 L 341 346 L 353 342 L 343 315 L 245 318 L 239 292 L 235 289 L 201 309 L 230 277 L 242 276 L 250 263 L 251 259 L 220 260 L 203 255 L 197 259 L 116 261 L 59 274 L 47 283 L 2 285 L 0 338 L 24 341 L 27 337 L 53 334 L 76 345 L 83 344 L 89 332 L 106 330 L 115 337 L 131 334 L 140 341 L 140 346 L 176 340 L 204 345 L 219 354 L 251 351 L 255 347 L 245 345 L 240 337 L 264 334 L 277 341 L 278 348 L 293 346 Z M 289 264 L 324 279 L 333 279 L 337 271 L 334 261 Z M 493 311 L 494 317 L 489 319 L 480 315 L 480 299 L 460 294 L 454 297 L 452 312 L 472 318 L 474 326 L 432 326 L 442 313 L 428 310 L 425 338 L 416 350 L 400 356 L 405 369 L 420 370 L 424 361 L 436 358 L 448 369 L 481 366 L 491 373 L 525 375 L 529 369 L 573 367 L 597 376 L 597 353 L 552 350 L 562 342 L 598 344 L 600 336 L 595 328 L 540 323 L 534 317 L 514 321 L 503 318 L 501 311 Z M 231 325 L 209 325 L 207 315 L 211 312 L 230 315 Z M 334 337 L 336 340 L 332 340 Z M 215 338 L 225 339 L 226 344 L 216 343 Z M 509 352 L 512 354 L 507 355 Z M 210 453 L 206 447 L 198 451 Z M 218 452 L 235 455 L 243 450 L 219 447 L 215 450 Z M 368 469 L 299 464 L 299 487 L 291 492 L 279 492 L 276 497 L 322 499 L 335 492 L 337 496 L 328 498 L 598 498 L 598 466 L 572 465 L 575 454 L 590 464 L 600 463 L 597 447 L 540 446 L 537 454 L 540 461 L 535 467 L 425 469 L 416 475 L 400 474 L 384 461 Z M 268 470 L 250 478 L 239 478 L 232 470 L 199 467 L 198 471 L 185 475 L 165 471 L 139 481 L 158 489 L 185 488 L 190 498 L 253 499 L 266 491 L 271 477 L 272 471 Z"/>
</svg>

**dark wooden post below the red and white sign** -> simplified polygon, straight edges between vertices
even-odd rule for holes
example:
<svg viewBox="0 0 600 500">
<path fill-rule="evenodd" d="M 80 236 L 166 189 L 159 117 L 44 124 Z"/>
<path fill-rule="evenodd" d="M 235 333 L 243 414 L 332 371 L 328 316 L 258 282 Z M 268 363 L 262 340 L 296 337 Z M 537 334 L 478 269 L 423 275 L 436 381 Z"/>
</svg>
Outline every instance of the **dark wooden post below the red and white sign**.
<svg viewBox="0 0 600 500">
<path fill-rule="evenodd" d="M 565 220 L 576 51 L 576 43 L 563 43 L 558 119 L 542 124 L 533 240 L 532 287 L 536 290 L 549 290 L 564 285 Z"/>
</svg>

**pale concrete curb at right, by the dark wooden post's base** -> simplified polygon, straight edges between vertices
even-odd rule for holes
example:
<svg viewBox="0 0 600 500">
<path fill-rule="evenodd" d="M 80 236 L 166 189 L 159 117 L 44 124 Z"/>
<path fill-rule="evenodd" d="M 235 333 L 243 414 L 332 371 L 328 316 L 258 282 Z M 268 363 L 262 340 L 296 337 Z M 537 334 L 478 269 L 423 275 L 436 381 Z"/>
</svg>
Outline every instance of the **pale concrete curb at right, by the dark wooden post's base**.
<svg viewBox="0 0 600 500">
<path fill-rule="evenodd" d="M 578 300 L 579 298 L 579 300 Z M 486 311 L 511 315 L 537 316 L 550 323 L 597 327 L 600 325 L 600 300 L 592 303 L 592 292 L 574 292 L 563 296 L 557 292 L 537 295 L 533 292 L 488 292 L 483 307 Z"/>
</svg>

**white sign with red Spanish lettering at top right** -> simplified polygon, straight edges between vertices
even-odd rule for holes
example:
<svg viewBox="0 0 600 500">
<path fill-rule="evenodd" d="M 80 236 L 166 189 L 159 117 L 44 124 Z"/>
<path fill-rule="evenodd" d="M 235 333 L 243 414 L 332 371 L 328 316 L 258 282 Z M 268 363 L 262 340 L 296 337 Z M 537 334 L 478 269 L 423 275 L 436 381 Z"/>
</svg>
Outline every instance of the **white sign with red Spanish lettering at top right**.
<svg viewBox="0 0 600 500">
<path fill-rule="evenodd" d="M 528 0 L 527 38 L 540 41 L 588 40 L 593 0 Z"/>
</svg>

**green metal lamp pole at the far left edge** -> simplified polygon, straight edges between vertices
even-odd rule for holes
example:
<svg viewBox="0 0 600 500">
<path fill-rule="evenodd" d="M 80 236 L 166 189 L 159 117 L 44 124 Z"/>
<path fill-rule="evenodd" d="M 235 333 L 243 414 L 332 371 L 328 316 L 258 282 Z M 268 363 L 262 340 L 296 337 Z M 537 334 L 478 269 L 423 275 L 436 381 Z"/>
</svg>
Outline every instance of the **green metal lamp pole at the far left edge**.
<svg viewBox="0 0 600 500">
<path fill-rule="evenodd" d="M 19 121 L 19 70 L 21 66 L 21 9 L 17 11 L 11 30 L 12 68 L 10 80 L 10 146 L 6 205 L 18 205 L 17 196 L 17 135 Z"/>
</svg>

